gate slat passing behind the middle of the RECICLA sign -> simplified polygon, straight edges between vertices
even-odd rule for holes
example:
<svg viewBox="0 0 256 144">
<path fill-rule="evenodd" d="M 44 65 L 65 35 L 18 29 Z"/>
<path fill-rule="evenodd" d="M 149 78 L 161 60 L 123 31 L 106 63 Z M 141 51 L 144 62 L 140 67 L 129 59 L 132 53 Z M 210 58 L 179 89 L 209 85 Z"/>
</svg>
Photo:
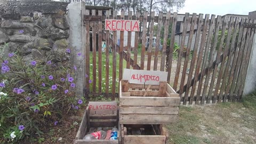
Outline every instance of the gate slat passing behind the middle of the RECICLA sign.
<svg viewBox="0 0 256 144">
<path fill-rule="evenodd" d="M 124 11 L 121 11 L 121 20 L 124 20 Z M 123 52 L 124 52 L 124 31 L 120 31 L 119 43 L 119 80 L 123 77 Z"/>
</svg>

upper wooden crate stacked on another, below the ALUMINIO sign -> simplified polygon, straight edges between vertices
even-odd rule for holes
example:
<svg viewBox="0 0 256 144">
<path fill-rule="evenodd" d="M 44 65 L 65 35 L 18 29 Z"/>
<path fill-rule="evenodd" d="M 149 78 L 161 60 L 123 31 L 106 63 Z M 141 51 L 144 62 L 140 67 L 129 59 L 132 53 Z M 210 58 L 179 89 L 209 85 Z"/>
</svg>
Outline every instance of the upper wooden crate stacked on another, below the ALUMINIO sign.
<svg viewBox="0 0 256 144">
<path fill-rule="evenodd" d="M 120 124 L 174 123 L 178 118 L 179 105 L 179 94 L 167 82 L 159 85 L 120 82 Z"/>
</svg>

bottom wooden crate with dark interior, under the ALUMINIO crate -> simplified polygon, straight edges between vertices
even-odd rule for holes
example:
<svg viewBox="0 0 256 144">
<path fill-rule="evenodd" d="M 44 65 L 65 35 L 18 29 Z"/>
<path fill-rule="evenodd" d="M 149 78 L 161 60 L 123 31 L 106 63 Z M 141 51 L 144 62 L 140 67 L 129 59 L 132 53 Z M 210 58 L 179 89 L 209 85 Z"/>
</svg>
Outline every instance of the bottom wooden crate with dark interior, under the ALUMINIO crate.
<svg viewBox="0 0 256 144">
<path fill-rule="evenodd" d="M 129 128 L 132 129 L 132 134 L 129 134 Z M 136 135 L 133 133 L 135 129 L 145 129 L 145 131 L 151 132 L 151 134 Z M 154 125 L 131 125 L 131 124 L 121 124 L 121 144 L 165 144 L 168 140 L 169 134 L 165 128 L 160 124 Z"/>
</svg>

